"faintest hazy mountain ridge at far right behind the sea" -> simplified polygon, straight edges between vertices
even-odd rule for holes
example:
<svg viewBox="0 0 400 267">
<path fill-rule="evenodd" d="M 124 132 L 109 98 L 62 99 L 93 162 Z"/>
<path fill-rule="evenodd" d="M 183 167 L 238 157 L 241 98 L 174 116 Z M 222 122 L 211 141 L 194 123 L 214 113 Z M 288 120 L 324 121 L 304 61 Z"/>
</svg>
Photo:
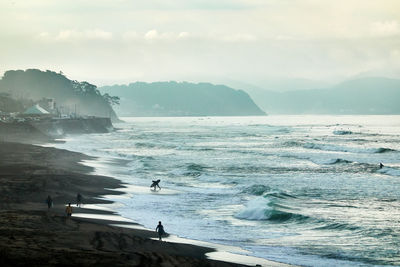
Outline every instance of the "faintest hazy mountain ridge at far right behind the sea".
<svg viewBox="0 0 400 267">
<path fill-rule="evenodd" d="M 327 89 L 251 91 L 271 114 L 400 114 L 400 80 L 369 77 Z"/>
</svg>

